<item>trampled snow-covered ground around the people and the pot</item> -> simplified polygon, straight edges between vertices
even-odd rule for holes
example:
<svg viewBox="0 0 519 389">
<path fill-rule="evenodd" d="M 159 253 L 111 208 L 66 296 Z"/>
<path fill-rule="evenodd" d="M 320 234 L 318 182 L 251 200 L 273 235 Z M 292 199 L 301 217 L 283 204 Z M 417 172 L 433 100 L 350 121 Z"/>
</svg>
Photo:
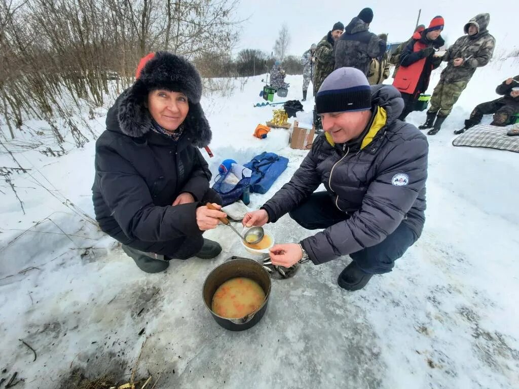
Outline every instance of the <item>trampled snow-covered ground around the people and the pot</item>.
<svg viewBox="0 0 519 389">
<path fill-rule="evenodd" d="M 519 156 L 450 143 L 473 106 L 495 99 L 496 85 L 518 73 L 517 59 L 478 70 L 442 131 L 429 137 L 425 230 L 392 273 L 348 293 L 336 285 L 348 257 L 307 264 L 273 281 L 267 313 L 243 332 L 219 327 L 201 299 L 211 269 L 249 256 L 228 228 L 206 235 L 223 246 L 215 260 L 174 261 L 167 272 L 145 274 L 89 221 L 94 142 L 67 144 L 59 158 L 11 144 L 17 162 L 4 153 L 0 166 L 30 170 L 11 175 L 25 215 L 10 187 L 0 187 L 0 379 L 16 371 L 25 379 L 17 387 L 46 389 L 71 387 L 62 383 L 73 370 L 130 374 L 148 337 L 139 372 L 161 374 L 160 388 L 519 388 Z M 234 80 L 232 96 L 202 101 L 213 172 L 222 159 L 246 162 L 264 150 L 290 160 L 266 195 L 251 195 L 253 208 L 305 156 L 287 146 L 286 130 L 252 136 L 272 116 L 269 107 L 253 107 L 262 101 L 261 78 Z M 301 99 L 302 76 L 288 81 L 287 100 Z M 304 106 L 311 110 L 313 99 Z M 98 133 L 104 112 L 90 120 Z M 408 121 L 424 118 L 413 113 Z M 277 242 L 311 233 L 288 216 L 268 228 Z"/>
</svg>

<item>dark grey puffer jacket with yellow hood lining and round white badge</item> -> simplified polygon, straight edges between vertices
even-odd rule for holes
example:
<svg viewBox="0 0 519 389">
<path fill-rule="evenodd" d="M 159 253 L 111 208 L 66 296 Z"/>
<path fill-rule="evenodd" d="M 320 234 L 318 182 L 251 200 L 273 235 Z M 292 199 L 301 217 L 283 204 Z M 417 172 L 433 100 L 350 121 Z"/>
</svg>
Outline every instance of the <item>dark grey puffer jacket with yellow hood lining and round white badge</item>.
<svg viewBox="0 0 519 389">
<path fill-rule="evenodd" d="M 275 222 L 324 184 L 346 220 L 303 240 L 316 264 L 374 246 L 402 221 L 418 237 L 424 226 L 427 138 L 397 119 L 404 104 L 394 87 L 373 86 L 372 105 L 361 139 L 332 145 L 320 135 L 290 182 L 263 206 Z"/>
</svg>

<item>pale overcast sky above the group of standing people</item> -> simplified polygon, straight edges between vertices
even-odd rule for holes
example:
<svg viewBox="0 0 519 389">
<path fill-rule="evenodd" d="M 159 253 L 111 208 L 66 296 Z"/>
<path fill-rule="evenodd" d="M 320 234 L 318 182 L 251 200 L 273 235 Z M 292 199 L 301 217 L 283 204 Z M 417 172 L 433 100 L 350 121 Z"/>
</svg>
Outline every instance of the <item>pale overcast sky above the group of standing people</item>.
<svg viewBox="0 0 519 389">
<path fill-rule="evenodd" d="M 241 49 L 254 48 L 270 54 L 279 29 L 282 23 L 286 22 L 291 35 L 289 53 L 302 55 L 312 43 L 318 43 L 335 22 L 340 21 L 347 25 L 364 7 L 373 9 L 374 18 L 370 31 L 376 34 L 388 33 L 388 40 L 391 42 L 402 41 L 412 35 L 421 7 L 421 24 L 427 26 L 434 16 L 443 16 L 445 29 L 442 36 L 448 45 L 463 35 L 463 25 L 469 19 L 477 13 L 490 13 L 488 30 L 497 40 L 497 54 L 501 50 L 519 48 L 517 4 L 519 3 L 516 0 L 386 0 L 368 3 L 331 0 L 241 0 L 237 18 L 249 19 L 242 24 L 241 38 L 235 53 Z"/>
</svg>

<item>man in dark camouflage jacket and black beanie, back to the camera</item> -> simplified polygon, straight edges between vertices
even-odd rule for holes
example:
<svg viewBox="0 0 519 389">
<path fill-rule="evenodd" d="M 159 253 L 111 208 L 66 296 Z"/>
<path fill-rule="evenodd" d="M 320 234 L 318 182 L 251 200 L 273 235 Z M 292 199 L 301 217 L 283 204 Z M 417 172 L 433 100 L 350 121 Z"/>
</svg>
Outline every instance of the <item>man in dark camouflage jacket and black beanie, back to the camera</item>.
<svg viewBox="0 0 519 389">
<path fill-rule="evenodd" d="M 345 27 L 344 34 L 335 44 L 336 69 L 354 67 L 367 76 L 371 60 L 380 58 L 386 52 L 386 41 L 368 31 L 372 19 L 373 11 L 364 8 Z"/>
</svg>

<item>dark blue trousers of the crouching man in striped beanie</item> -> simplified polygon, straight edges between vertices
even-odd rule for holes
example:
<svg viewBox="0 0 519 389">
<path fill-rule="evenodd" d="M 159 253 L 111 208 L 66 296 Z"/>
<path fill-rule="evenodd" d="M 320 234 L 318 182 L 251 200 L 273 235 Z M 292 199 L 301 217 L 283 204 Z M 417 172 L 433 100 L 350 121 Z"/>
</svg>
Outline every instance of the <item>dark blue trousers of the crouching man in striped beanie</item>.
<svg viewBox="0 0 519 389">
<path fill-rule="evenodd" d="M 309 229 L 323 229 L 348 219 L 348 215 L 339 211 L 328 192 L 316 192 L 295 210 L 290 217 L 300 226 Z M 393 269 L 394 261 L 400 258 L 411 247 L 418 237 L 406 224 L 401 223 L 382 242 L 351 253 L 350 257 L 357 265 L 370 274 L 382 274 Z"/>
</svg>

